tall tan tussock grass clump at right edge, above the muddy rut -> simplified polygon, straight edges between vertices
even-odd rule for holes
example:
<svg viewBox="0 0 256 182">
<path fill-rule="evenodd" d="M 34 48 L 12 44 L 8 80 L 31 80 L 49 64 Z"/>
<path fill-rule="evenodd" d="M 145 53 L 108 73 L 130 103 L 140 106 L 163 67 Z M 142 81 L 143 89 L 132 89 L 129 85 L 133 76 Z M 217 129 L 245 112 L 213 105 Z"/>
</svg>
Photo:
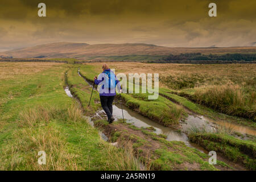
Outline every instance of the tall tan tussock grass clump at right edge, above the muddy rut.
<svg viewBox="0 0 256 182">
<path fill-rule="evenodd" d="M 232 82 L 198 89 L 194 97 L 196 101 L 218 109 L 222 113 L 246 117 L 256 121 L 255 92 L 245 96 L 242 94 L 241 86 Z"/>
</svg>

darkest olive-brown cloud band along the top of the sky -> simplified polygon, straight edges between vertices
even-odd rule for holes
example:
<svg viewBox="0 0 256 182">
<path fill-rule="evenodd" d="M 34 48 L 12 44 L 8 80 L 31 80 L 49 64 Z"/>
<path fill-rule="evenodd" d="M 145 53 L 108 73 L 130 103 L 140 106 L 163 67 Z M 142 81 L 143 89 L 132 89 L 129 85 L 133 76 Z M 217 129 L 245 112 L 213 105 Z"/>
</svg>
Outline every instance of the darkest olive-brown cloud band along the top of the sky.
<svg viewBox="0 0 256 182">
<path fill-rule="evenodd" d="M 49 11 L 63 11 L 67 16 L 80 15 L 119 15 L 157 14 L 189 18 L 205 15 L 209 0 L 1 0 L 0 15 L 5 18 L 24 18 L 37 11 L 40 2 L 47 5 Z M 220 15 L 234 18 L 255 18 L 255 1 L 226 0 L 216 1 Z M 117 17 L 118 18 L 118 17 Z M 171 17 L 170 17 L 171 18 Z M 203 18 L 203 17 L 201 17 Z"/>
</svg>

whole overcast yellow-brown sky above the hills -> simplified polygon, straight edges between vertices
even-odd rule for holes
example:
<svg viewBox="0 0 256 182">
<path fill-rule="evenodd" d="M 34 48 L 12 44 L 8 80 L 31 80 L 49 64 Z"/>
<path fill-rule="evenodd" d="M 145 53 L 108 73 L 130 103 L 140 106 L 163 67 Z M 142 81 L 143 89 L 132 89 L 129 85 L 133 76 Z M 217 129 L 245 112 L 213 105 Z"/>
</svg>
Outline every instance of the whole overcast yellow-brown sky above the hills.
<svg viewBox="0 0 256 182">
<path fill-rule="evenodd" d="M 255 0 L 1 0 L 0 51 L 52 42 L 256 46 L 255 9 Z"/>
</svg>

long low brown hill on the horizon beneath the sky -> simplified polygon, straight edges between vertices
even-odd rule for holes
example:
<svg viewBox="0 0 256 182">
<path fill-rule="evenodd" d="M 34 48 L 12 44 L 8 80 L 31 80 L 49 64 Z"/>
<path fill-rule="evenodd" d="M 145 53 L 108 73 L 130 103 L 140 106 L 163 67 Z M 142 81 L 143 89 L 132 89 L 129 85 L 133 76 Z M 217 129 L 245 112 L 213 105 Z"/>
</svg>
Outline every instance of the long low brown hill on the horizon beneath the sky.
<svg viewBox="0 0 256 182">
<path fill-rule="evenodd" d="M 86 44 L 86 43 L 50 43 L 34 47 L 14 49 L 11 51 L 0 52 L 0 57 L 16 58 L 76 58 L 81 60 L 88 59 L 120 59 L 120 57 L 159 57 L 170 54 L 201 52 L 205 54 L 224 54 L 224 53 L 255 53 L 256 47 L 163 47 L 153 44 Z M 148 58 L 150 59 L 150 58 Z"/>
</svg>

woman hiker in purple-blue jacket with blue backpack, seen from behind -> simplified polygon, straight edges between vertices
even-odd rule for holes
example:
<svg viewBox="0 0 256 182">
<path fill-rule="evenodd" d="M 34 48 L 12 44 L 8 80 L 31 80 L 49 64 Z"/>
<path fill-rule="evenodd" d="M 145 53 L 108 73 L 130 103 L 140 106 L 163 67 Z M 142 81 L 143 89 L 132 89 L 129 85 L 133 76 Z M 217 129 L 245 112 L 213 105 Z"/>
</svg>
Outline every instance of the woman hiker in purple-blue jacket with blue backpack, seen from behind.
<svg viewBox="0 0 256 182">
<path fill-rule="evenodd" d="M 100 86 L 100 100 L 101 106 L 106 115 L 108 115 L 108 122 L 112 123 L 115 119 L 113 117 L 113 101 L 115 97 L 115 87 L 117 86 L 121 93 L 121 86 L 119 80 L 114 75 L 114 72 L 109 69 L 107 64 L 102 65 L 103 72 L 94 77 L 94 83 Z"/>
</svg>

